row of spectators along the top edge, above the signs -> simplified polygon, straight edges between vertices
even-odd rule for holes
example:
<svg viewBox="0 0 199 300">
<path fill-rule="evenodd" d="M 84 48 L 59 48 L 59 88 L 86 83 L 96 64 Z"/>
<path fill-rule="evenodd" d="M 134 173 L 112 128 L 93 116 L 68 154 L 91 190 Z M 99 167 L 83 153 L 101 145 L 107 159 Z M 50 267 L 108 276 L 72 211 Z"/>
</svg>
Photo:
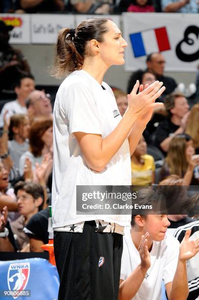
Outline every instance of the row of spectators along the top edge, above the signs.
<svg viewBox="0 0 199 300">
<path fill-rule="evenodd" d="M 111 14 L 122 12 L 198 13 L 196 0 L 2 0 L 0 12 L 65 12 Z"/>
</svg>

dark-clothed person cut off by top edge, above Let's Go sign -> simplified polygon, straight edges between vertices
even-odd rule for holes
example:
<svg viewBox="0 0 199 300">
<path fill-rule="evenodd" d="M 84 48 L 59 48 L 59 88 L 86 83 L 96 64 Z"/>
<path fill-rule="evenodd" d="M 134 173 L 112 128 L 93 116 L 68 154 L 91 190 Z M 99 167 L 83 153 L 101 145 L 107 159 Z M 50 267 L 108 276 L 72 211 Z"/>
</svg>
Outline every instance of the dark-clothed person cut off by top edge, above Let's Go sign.
<svg viewBox="0 0 199 300">
<path fill-rule="evenodd" d="M 26 13 L 55 12 L 64 9 L 64 0 L 19 0 L 19 7 Z"/>
</svg>

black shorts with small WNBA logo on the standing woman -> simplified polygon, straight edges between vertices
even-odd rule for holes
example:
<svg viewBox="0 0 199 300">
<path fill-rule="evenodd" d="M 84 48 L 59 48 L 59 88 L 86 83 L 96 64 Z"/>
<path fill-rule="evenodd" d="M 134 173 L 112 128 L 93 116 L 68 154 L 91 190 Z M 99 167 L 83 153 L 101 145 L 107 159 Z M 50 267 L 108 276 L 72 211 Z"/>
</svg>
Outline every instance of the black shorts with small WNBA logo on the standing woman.
<svg viewBox="0 0 199 300">
<path fill-rule="evenodd" d="M 83 233 L 54 231 L 58 300 L 118 299 L 123 236 L 95 228 L 89 221 Z"/>
</svg>

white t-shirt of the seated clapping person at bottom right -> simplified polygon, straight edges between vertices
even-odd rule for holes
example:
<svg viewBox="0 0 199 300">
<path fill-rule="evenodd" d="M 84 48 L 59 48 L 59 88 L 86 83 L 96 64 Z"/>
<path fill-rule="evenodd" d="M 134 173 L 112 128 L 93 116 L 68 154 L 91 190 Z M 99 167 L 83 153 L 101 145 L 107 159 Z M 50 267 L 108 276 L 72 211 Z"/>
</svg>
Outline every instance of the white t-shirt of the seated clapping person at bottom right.
<svg viewBox="0 0 199 300">
<path fill-rule="evenodd" d="M 164 280 L 164 284 L 167 284 L 173 281 L 176 273 L 179 242 L 173 236 L 166 235 L 161 242 L 153 242 L 150 255 L 151 267 L 133 300 L 161 299 L 162 280 Z M 125 280 L 131 275 L 140 262 L 139 252 L 132 241 L 131 228 L 125 228 L 120 279 Z"/>
</svg>

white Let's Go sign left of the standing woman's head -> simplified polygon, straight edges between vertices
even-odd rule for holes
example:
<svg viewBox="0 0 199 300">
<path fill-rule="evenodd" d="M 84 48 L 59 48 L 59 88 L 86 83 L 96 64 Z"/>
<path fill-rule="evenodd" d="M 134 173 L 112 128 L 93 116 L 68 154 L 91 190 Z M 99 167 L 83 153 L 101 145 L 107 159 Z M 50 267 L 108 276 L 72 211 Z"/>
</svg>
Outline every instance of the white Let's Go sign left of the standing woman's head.
<svg viewBox="0 0 199 300">
<path fill-rule="evenodd" d="M 32 15 L 32 44 L 54 44 L 60 29 L 74 28 L 74 15 Z"/>
</svg>

